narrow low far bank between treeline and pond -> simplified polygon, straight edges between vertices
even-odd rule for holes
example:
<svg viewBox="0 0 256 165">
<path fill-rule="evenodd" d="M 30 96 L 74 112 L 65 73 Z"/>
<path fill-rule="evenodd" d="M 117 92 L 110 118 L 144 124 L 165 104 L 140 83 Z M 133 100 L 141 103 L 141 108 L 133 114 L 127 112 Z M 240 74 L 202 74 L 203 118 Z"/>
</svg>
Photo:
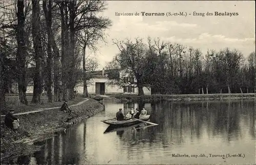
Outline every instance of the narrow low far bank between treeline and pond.
<svg viewBox="0 0 256 165">
<path fill-rule="evenodd" d="M 228 99 L 254 99 L 254 93 L 246 94 L 187 94 L 187 95 L 109 95 L 114 97 L 113 100 L 121 101 L 154 101 L 154 100 L 170 100 L 170 101 L 193 101 L 193 100 L 228 100 Z M 104 99 L 104 98 L 103 98 Z M 106 101 L 111 100 L 106 98 Z"/>
</svg>

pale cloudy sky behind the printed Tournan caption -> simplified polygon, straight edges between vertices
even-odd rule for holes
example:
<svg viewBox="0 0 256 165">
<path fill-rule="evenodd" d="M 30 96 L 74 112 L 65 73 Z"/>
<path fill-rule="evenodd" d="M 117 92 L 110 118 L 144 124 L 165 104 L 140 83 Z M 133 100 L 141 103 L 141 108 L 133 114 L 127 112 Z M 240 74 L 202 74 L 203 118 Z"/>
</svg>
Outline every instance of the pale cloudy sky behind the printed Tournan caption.
<svg viewBox="0 0 256 165">
<path fill-rule="evenodd" d="M 106 1 L 108 9 L 101 13 L 112 20 L 106 30 L 107 43 L 99 42 L 95 53 L 102 69 L 119 52 L 113 39 L 136 37 L 159 38 L 180 43 L 187 47 L 220 50 L 225 47 L 238 49 L 245 57 L 255 51 L 255 2 L 254 1 Z M 116 16 L 133 13 L 133 16 Z M 139 16 L 135 16 L 135 13 Z M 164 16 L 142 16 L 146 13 L 165 13 Z M 166 13 L 186 12 L 187 16 L 166 16 Z M 204 17 L 193 13 L 205 13 Z M 213 13 L 207 16 L 206 13 Z M 238 15 L 215 15 L 238 13 Z M 189 15 L 191 14 L 191 15 Z"/>
</svg>

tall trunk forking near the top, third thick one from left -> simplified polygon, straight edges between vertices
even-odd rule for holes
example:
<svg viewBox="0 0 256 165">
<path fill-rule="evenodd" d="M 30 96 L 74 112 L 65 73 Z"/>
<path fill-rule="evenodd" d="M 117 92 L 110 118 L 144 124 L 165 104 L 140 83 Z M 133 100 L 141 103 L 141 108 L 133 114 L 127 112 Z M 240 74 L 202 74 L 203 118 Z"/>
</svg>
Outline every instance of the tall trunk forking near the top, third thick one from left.
<svg viewBox="0 0 256 165">
<path fill-rule="evenodd" d="M 47 25 L 47 35 L 48 35 L 48 47 L 47 47 L 47 96 L 48 102 L 52 102 L 52 67 L 53 67 L 53 58 L 52 58 L 52 1 L 49 0 L 48 10 L 46 7 L 46 1 L 42 2 L 42 6 L 45 13 L 46 25 Z"/>
</svg>

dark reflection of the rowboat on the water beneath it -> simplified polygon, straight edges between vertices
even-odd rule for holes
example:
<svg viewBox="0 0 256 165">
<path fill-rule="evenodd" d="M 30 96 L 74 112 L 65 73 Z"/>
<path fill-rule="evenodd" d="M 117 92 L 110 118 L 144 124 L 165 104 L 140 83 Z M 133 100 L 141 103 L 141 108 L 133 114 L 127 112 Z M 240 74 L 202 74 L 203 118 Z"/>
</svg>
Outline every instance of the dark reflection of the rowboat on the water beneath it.
<svg viewBox="0 0 256 165">
<path fill-rule="evenodd" d="M 147 127 L 152 127 L 152 126 L 155 126 L 155 125 L 148 124 L 148 123 L 138 123 L 138 124 L 129 125 L 129 126 L 110 125 L 108 128 L 106 128 L 104 133 L 110 133 L 110 132 L 115 132 L 116 131 L 116 134 L 121 137 L 125 130 L 130 130 L 131 129 L 131 130 L 135 131 L 135 130 L 145 129 Z"/>
</svg>

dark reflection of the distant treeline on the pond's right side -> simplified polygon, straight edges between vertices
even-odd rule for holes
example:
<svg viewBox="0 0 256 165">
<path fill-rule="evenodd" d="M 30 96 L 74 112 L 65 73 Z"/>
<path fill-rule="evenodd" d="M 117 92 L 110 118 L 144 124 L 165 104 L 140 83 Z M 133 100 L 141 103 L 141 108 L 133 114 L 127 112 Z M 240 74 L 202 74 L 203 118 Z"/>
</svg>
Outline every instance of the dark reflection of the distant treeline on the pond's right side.
<svg viewBox="0 0 256 165">
<path fill-rule="evenodd" d="M 188 133 L 191 135 L 191 140 L 193 138 L 200 140 L 203 137 L 204 128 L 207 129 L 208 136 L 221 135 L 229 142 L 242 135 L 241 129 L 245 127 L 246 121 L 251 121 L 247 125 L 250 132 L 254 132 L 253 104 L 247 109 L 243 108 L 243 111 L 240 111 L 239 104 L 241 102 L 201 102 L 200 104 L 162 101 L 152 103 L 151 121 L 159 123 L 157 132 L 171 135 L 169 137 L 174 135 L 180 142 L 184 141 L 184 134 Z M 167 108 L 168 111 L 166 111 Z M 254 133 L 250 134 L 253 139 Z"/>
</svg>

